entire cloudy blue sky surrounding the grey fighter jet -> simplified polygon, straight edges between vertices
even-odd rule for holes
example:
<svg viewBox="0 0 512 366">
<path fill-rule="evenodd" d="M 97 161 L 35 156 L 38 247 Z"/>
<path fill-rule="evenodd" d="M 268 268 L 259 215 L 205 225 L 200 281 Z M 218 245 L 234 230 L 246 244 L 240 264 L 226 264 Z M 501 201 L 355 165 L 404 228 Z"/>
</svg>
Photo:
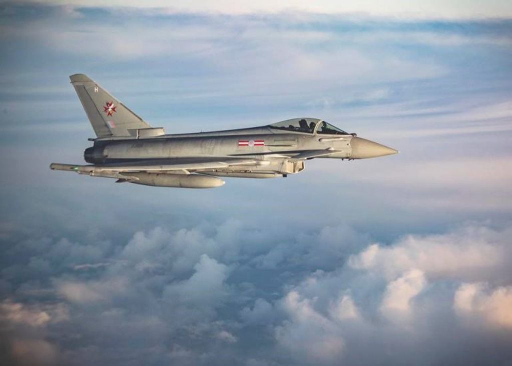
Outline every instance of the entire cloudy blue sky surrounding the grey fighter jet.
<svg viewBox="0 0 512 366">
<path fill-rule="evenodd" d="M 0 3 L 0 359 L 509 364 L 512 5 Z M 167 133 L 316 117 L 400 150 L 187 190 L 50 171 L 84 73 Z"/>
</svg>

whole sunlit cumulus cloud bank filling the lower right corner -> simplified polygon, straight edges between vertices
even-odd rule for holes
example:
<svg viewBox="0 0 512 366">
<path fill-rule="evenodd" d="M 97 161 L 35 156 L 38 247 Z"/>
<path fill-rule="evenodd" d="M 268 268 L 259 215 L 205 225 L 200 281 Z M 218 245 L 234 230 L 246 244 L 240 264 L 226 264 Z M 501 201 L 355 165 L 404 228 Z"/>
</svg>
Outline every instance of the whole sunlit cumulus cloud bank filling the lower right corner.
<svg viewBox="0 0 512 366">
<path fill-rule="evenodd" d="M 509 228 L 475 225 L 370 244 L 289 289 L 276 303 L 287 318 L 275 340 L 304 364 L 505 362 L 511 253 Z M 491 345 L 496 353 L 485 351 Z"/>
</svg>

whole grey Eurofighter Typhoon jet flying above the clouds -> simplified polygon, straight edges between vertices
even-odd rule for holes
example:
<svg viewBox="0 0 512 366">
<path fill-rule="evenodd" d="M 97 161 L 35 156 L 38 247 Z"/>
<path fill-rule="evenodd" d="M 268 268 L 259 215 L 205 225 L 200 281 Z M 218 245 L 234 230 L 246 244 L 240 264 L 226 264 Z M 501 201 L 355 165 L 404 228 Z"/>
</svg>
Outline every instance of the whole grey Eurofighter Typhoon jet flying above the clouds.
<svg viewBox="0 0 512 366">
<path fill-rule="evenodd" d="M 219 177 L 286 177 L 302 172 L 313 158 L 352 160 L 398 152 L 316 118 L 165 134 L 86 75 L 70 79 L 97 137 L 89 139 L 94 145 L 84 151 L 90 165 L 53 163 L 53 170 L 147 186 L 213 188 L 224 185 Z"/>
</svg>

